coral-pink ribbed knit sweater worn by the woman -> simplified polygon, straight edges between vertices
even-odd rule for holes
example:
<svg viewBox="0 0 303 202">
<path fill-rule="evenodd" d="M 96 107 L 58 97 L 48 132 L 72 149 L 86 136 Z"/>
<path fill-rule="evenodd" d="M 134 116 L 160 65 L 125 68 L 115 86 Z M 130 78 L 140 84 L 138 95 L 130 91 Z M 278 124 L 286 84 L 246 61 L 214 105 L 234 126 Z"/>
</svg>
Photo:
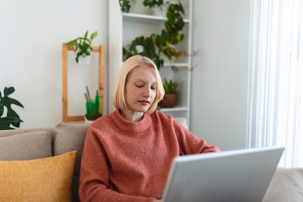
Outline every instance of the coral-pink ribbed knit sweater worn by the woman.
<svg viewBox="0 0 303 202">
<path fill-rule="evenodd" d="M 91 124 L 82 154 L 81 202 L 152 202 L 161 199 L 174 157 L 219 152 L 160 111 L 140 122 L 119 110 Z"/>
</svg>

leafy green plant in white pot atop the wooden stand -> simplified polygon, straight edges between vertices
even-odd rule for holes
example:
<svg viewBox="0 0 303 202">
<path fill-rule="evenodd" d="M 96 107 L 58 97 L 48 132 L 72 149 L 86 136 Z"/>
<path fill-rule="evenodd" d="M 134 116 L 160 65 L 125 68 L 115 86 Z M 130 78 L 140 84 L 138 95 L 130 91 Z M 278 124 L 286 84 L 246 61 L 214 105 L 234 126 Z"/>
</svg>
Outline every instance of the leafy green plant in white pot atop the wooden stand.
<svg viewBox="0 0 303 202">
<path fill-rule="evenodd" d="M 76 62 L 79 63 L 79 59 L 89 59 L 91 58 L 91 41 L 97 36 L 97 31 L 91 34 L 91 37 L 88 38 L 88 31 L 84 34 L 84 37 L 78 37 L 70 42 L 67 42 L 68 46 L 75 46 Z M 81 62 L 80 62 L 81 63 Z M 84 64 L 84 63 L 82 63 Z"/>
</svg>

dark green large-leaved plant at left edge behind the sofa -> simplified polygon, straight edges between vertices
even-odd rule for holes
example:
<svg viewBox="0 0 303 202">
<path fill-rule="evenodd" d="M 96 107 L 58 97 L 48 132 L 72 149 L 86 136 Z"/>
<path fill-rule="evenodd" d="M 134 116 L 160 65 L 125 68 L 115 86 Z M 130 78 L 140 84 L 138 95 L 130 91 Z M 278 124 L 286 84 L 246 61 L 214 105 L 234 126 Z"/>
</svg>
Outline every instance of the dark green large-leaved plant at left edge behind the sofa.
<svg viewBox="0 0 303 202">
<path fill-rule="evenodd" d="M 0 92 L 0 130 L 15 129 L 11 127 L 11 124 L 18 128 L 20 126 L 20 122 L 23 122 L 20 119 L 19 115 L 11 108 L 12 104 L 24 108 L 19 101 L 8 97 L 8 95 L 14 92 L 14 87 L 5 87 L 3 91 L 3 97 Z M 2 117 L 4 113 L 4 107 L 7 109 L 6 117 Z"/>
</svg>

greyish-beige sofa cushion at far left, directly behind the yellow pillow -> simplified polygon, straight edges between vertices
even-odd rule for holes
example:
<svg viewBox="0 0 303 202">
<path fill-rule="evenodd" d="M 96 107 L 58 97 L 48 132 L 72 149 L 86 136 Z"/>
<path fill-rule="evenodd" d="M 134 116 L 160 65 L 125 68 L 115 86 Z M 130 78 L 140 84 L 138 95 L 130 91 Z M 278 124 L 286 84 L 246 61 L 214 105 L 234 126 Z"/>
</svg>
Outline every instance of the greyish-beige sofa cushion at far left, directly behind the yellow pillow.
<svg viewBox="0 0 303 202">
<path fill-rule="evenodd" d="M 52 156 L 51 137 L 36 131 L 0 138 L 0 160 L 30 160 Z"/>
</svg>

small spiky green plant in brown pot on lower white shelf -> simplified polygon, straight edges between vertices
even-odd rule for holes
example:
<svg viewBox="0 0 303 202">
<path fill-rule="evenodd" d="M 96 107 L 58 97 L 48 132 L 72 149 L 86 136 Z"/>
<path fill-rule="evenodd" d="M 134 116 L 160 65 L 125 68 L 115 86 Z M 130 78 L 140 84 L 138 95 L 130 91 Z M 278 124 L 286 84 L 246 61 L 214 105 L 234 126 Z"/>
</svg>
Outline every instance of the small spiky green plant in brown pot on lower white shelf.
<svg viewBox="0 0 303 202">
<path fill-rule="evenodd" d="M 176 105 L 176 89 L 178 87 L 179 83 L 178 80 L 172 80 L 170 79 L 169 82 L 166 78 L 164 78 L 164 91 L 165 95 L 163 97 L 163 100 L 161 100 L 158 103 L 158 106 L 160 108 L 173 108 Z"/>
</svg>

